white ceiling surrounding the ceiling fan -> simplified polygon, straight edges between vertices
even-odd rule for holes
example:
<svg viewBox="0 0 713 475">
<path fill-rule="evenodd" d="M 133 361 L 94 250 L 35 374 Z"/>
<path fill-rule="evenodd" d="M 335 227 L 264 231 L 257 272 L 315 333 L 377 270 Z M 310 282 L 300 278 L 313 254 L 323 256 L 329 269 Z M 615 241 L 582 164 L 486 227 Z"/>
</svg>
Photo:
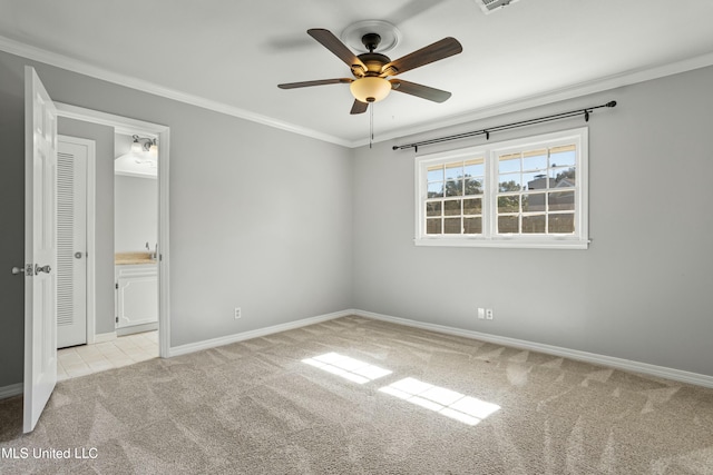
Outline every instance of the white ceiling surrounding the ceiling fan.
<svg viewBox="0 0 713 475">
<path fill-rule="evenodd" d="M 475 0 L 0 0 L 0 49 L 355 146 L 369 113 L 350 116 L 346 85 L 276 85 L 350 77 L 306 30 L 367 19 L 400 30 L 392 59 L 463 46 L 399 76 L 452 97 L 391 93 L 377 141 L 713 63 L 711 0 L 519 0 L 487 16 Z"/>
</svg>

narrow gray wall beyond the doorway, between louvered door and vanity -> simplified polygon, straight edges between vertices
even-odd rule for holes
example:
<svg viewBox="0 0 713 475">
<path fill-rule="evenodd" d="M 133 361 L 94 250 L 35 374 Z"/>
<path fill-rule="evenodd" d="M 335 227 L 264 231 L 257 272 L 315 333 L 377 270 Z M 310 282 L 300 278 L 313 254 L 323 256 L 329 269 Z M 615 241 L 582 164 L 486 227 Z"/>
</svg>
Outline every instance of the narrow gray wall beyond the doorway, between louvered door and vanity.
<svg viewBox="0 0 713 475">
<path fill-rule="evenodd" d="M 95 278 L 96 334 L 115 329 L 114 311 L 114 127 L 60 117 L 57 131 L 94 140 L 95 164 Z"/>
</svg>

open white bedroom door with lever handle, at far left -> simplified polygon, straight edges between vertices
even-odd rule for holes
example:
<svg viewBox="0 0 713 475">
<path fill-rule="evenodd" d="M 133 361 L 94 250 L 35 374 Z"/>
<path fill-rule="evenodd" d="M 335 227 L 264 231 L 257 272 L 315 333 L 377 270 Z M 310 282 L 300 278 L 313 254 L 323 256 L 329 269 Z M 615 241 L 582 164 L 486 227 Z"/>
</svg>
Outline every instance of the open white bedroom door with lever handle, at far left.
<svg viewBox="0 0 713 475">
<path fill-rule="evenodd" d="M 57 384 L 57 109 L 25 67 L 25 416 L 31 432 Z"/>
</svg>

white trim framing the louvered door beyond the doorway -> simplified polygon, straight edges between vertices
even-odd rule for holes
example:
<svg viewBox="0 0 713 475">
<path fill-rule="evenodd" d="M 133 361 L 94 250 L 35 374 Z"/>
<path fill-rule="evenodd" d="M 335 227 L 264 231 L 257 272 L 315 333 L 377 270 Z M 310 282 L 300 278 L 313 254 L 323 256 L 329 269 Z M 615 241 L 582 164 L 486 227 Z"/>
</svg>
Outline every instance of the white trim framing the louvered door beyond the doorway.
<svg viewBox="0 0 713 475">
<path fill-rule="evenodd" d="M 57 110 L 57 116 L 62 117 Z M 87 229 L 86 229 L 86 239 L 87 239 L 87 345 L 92 345 L 95 343 L 95 331 L 96 331 L 96 318 L 97 318 L 97 304 L 96 304 L 96 199 L 97 199 L 97 142 L 91 139 L 82 139 L 80 137 L 68 136 L 66 133 L 57 135 L 57 144 L 59 147 L 59 142 L 65 141 L 68 144 L 75 144 L 87 147 L 87 196 L 85 200 L 87 201 Z"/>
</svg>

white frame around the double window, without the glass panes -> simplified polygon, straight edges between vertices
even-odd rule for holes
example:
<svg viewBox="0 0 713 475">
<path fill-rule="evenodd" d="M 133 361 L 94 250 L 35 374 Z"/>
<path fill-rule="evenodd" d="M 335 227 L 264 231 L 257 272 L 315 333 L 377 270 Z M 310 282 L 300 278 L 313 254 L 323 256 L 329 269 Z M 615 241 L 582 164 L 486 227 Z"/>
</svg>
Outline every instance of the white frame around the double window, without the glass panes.
<svg viewBox="0 0 713 475">
<path fill-rule="evenodd" d="M 576 146 L 575 167 L 575 232 L 574 234 L 497 234 L 498 156 L 534 147 Z M 433 165 L 485 157 L 485 190 L 482 195 L 482 234 L 427 235 L 426 201 L 428 198 L 428 168 Z M 416 234 L 417 246 L 502 247 L 536 249 L 587 249 L 588 230 L 588 128 L 541 133 L 500 142 L 484 144 L 458 150 L 419 156 L 416 158 Z"/>
</svg>

